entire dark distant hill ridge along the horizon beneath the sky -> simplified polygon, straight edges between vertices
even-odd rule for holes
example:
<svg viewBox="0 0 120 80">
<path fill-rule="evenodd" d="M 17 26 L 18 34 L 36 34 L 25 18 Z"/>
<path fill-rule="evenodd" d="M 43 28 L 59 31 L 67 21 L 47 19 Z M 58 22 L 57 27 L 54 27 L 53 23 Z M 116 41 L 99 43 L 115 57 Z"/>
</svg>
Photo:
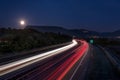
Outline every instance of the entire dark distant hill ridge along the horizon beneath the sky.
<svg viewBox="0 0 120 80">
<path fill-rule="evenodd" d="M 62 34 L 67 34 L 70 36 L 77 36 L 82 38 L 120 36 L 120 30 L 117 30 L 115 32 L 100 33 L 100 32 L 90 31 L 86 29 L 66 29 L 66 28 L 57 27 L 57 26 L 27 26 L 26 28 L 32 28 L 42 32 L 62 33 Z"/>
</svg>

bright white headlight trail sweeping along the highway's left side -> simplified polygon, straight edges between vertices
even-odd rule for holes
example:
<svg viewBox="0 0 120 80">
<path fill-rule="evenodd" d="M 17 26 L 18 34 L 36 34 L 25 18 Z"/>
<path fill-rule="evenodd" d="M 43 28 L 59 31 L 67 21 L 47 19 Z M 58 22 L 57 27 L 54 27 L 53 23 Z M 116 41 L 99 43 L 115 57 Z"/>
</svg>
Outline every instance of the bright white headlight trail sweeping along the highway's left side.
<svg viewBox="0 0 120 80">
<path fill-rule="evenodd" d="M 78 43 L 75 40 L 73 40 L 72 44 L 69 44 L 67 46 L 57 48 L 55 50 L 48 51 L 46 53 L 42 53 L 42 54 L 39 54 L 39 55 L 36 55 L 33 57 L 29 57 L 26 59 L 22 59 L 22 60 L 18 60 L 18 61 L 12 62 L 12 63 L 2 65 L 2 66 L 0 66 L 0 75 L 1 76 L 5 75 L 7 73 L 10 73 L 10 72 L 15 71 L 15 70 L 20 69 L 20 68 L 23 68 L 23 67 L 30 65 L 32 63 L 35 63 L 37 61 L 41 61 L 41 60 L 46 59 L 48 57 L 51 57 L 53 55 L 60 54 L 64 51 L 76 46 L 77 44 Z"/>
</svg>

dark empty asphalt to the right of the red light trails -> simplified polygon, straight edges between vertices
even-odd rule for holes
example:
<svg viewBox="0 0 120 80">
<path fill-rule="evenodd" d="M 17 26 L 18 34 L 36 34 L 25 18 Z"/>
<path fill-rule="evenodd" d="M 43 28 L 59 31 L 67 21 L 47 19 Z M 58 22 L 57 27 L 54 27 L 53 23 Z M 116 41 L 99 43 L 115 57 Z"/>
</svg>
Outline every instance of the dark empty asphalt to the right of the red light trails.
<svg viewBox="0 0 120 80">
<path fill-rule="evenodd" d="M 99 47 L 90 45 L 83 58 L 84 60 L 80 59 L 63 80 L 120 80 L 119 74 Z"/>
</svg>

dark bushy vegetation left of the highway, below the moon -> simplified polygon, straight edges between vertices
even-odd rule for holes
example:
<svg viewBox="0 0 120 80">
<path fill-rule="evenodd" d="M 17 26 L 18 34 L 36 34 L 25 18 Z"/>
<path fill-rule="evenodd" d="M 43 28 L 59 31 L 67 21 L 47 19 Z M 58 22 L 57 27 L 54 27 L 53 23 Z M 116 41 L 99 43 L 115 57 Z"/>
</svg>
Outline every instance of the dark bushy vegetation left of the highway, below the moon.
<svg viewBox="0 0 120 80">
<path fill-rule="evenodd" d="M 0 53 L 26 51 L 71 41 L 60 33 L 42 33 L 34 29 L 0 29 Z"/>
</svg>

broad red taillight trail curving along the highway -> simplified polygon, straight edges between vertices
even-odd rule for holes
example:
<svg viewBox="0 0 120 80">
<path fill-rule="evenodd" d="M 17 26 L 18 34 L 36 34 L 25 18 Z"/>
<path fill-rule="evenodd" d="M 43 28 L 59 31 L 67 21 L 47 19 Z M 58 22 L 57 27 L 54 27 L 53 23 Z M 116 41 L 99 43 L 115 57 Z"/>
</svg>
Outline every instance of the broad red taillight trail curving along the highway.
<svg viewBox="0 0 120 80">
<path fill-rule="evenodd" d="M 83 43 L 82 47 L 76 53 L 67 59 L 62 65 L 60 65 L 51 76 L 49 76 L 48 80 L 62 80 L 62 78 L 67 74 L 67 72 L 74 66 L 74 64 L 82 57 L 88 48 L 88 44 L 85 41 L 81 41 Z"/>
</svg>

